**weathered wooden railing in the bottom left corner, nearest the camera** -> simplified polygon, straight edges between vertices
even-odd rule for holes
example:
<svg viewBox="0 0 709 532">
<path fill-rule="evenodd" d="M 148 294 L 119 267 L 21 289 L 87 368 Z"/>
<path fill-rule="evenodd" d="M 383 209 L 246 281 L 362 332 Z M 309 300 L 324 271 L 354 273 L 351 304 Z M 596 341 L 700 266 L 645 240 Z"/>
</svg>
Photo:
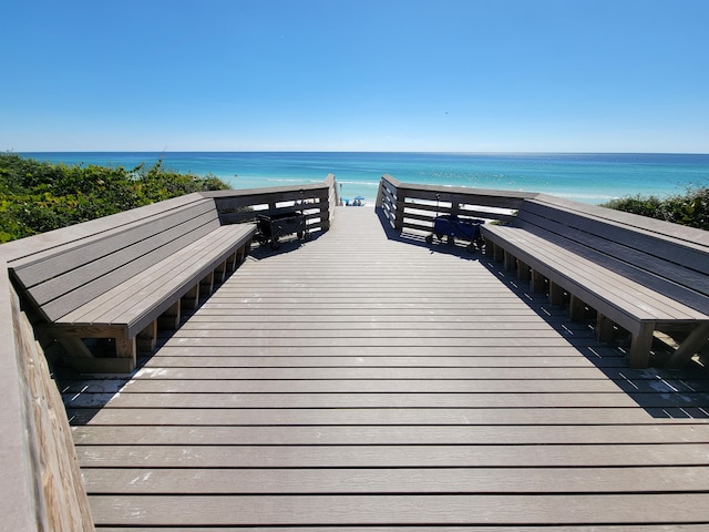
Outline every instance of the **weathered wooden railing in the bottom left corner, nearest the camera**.
<svg viewBox="0 0 709 532">
<path fill-rule="evenodd" d="M 69 421 L 0 254 L 0 488 L 3 530 L 93 531 Z"/>
</svg>

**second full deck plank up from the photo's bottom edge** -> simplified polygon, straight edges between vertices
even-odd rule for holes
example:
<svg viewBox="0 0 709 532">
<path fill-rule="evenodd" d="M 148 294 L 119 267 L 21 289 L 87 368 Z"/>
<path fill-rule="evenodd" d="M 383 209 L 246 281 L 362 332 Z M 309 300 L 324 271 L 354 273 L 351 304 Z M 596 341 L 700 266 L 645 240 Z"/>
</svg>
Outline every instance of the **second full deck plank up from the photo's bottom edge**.
<svg viewBox="0 0 709 532">
<path fill-rule="evenodd" d="M 709 467 L 665 468 L 397 468 L 372 469 L 89 469 L 86 488 L 125 493 L 618 493 L 709 491 Z"/>
</svg>

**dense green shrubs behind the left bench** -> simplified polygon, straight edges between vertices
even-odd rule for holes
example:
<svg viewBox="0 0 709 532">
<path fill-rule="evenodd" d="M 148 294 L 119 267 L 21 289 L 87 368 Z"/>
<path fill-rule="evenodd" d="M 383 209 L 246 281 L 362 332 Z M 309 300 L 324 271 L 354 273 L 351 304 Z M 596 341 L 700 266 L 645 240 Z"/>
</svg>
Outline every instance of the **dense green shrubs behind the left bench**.
<svg viewBox="0 0 709 532">
<path fill-rule="evenodd" d="M 228 185 L 152 165 L 65 165 L 0 153 L 0 243 Z"/>
</svg>

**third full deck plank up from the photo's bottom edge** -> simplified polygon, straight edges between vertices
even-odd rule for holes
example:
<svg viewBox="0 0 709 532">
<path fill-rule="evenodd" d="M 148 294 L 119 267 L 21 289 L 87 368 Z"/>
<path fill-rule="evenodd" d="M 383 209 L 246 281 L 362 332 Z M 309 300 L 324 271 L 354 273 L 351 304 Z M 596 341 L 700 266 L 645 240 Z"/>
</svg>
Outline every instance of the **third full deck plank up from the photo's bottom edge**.
<svg viewBox="0 0 709 532">
<path fill-rule="evenodd" d="M 619 468 L 706 464 L 705 443 L 584 446 L 93 446 L 88 468 Z M 144 471 L 145 473 L 150 471 Z M 699 471 L 698 474 L 701 474 Z M 579 471 L 580 474 L 580 471 Z M 592 473 L 593 474 L 593 471 Z M 524 478 L 520 479 L 524 482 Z M 394 489 L 395 487 L 392 487 Z M 115 489 L 115 488 L 114 488 Z M 126 490 L 121 487 L 120 492 Z M 189 491 L 188 487 L 183 489 Z M 607 485 L 608 492 L 616 487 Z M 644 491 L 640 485 L 636 490 Z M 405 491 L 405 490 L 403 490 Z M 455 490 L 451 490 L 455 491 Z"/>
</svg>

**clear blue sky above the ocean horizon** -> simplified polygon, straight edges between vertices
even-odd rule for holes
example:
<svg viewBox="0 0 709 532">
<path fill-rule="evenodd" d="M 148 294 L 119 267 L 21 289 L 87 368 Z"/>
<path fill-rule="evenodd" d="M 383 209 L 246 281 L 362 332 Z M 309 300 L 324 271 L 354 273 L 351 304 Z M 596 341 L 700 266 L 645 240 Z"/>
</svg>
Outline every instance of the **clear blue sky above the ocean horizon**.
<svg viewBox="0 0 709 532">
<path fill-rule="evenodd" d="M 12 0 L 0 150 L 709 153 L 708 0 Z"/>
</svg>

